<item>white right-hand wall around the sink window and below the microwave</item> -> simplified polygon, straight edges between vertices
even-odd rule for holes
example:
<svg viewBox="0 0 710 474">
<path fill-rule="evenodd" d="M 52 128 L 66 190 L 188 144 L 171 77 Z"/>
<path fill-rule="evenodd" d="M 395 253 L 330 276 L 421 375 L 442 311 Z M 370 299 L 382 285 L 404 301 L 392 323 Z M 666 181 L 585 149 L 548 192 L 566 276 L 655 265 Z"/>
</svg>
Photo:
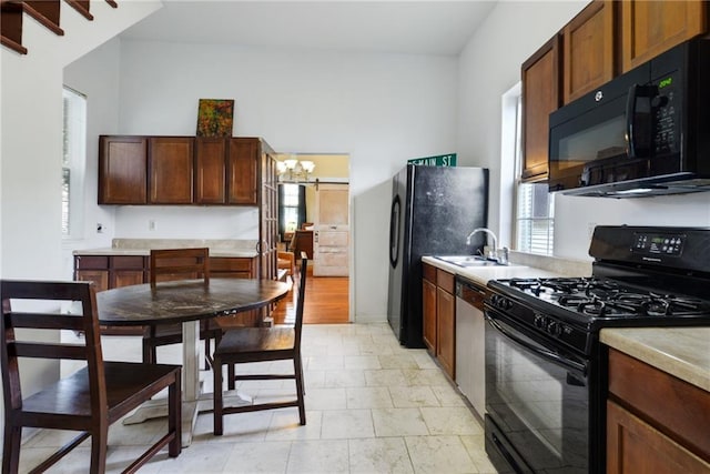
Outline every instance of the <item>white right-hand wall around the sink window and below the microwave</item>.
<svg viewBox="0 0 710 474">
<path fill-rule="evenodd" d="M 500 98 L 520 80 L 520 64 L 587 3 L 504 1 L 470 39 L 459 63 L 460 164 L 491 170 L 489 224 L 499 232 Z M 589 260 L 595 224 L 710 225 L 710 193 L 630 200 L 555 196 L 555 254 Z M 501 232 L 503 233 L 503 232 Z"/>
</svg>

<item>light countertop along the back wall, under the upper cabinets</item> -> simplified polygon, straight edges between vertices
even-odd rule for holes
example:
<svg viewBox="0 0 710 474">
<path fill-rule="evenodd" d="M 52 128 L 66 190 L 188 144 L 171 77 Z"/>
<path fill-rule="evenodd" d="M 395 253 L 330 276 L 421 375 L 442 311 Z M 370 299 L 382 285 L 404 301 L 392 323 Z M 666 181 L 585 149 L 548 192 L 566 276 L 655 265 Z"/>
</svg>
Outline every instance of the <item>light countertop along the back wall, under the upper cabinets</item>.
<svg viewBox="0 0 710 474">
<path fill-rule="evenodd" d="M 255 240 L 239 239 L 113 239 L 111 246 L 74 250 L 74 255 L 140 255 L 148 256 L 151 249 L 210 249 L 210 256 L 245 258 L 258 255 Z"/>
</svg>

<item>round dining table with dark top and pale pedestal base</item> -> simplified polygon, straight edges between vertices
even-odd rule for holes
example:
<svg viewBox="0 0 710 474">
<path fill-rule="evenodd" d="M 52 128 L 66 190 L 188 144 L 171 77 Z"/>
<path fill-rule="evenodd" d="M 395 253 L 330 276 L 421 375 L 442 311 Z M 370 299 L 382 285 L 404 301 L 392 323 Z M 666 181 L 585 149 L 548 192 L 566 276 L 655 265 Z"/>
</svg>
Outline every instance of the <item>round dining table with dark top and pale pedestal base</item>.
<svg viewBox="0 0 710 474">
<path fill-rule="evenodd" d="M 197 414 L 212 410 L 212 394 L 201 393 L 200 321 L 268 306 L 286 295 L 291 285 L 272 280 L 178 280 L 121 286 L 97 293 L 99 323 L 112 327 L 182 324 L 183 446 L 192 442 Z M 251 403 L 239 393 L 232 403 Z M 226 400 L 226 399 L 225 399 Z M 164 416 L 164 401 L 143 405 L 124 423 Z"/>
</svg>

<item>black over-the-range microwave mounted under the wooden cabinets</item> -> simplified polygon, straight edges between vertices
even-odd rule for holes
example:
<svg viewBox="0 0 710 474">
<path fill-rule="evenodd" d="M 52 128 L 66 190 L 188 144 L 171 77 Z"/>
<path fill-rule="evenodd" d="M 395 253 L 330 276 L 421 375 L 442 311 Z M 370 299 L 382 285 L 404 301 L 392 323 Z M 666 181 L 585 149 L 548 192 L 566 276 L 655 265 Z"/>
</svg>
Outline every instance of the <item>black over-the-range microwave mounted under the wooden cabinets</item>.
<svg viewBox="0 0 710 474">
<path fill-rule="evenodd" d="M 710 40 L 683 42 L 549 117 L 549 190 L 710 191 Z"/>
</svg>

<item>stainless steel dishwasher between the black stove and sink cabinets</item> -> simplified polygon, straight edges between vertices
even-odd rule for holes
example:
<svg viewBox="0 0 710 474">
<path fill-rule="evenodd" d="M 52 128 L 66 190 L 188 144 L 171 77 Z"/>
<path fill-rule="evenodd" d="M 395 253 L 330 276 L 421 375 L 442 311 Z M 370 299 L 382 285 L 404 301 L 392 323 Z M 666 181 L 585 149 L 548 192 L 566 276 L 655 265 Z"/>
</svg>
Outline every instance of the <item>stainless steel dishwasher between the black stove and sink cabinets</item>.
<svg viewBox="0 0 710 474">
<path fill-rule="evenodd" d="M 481 418 L 486 406 L 485 294 L 485 286 L 456 276 L 456 383 Z"/>
</svg>

